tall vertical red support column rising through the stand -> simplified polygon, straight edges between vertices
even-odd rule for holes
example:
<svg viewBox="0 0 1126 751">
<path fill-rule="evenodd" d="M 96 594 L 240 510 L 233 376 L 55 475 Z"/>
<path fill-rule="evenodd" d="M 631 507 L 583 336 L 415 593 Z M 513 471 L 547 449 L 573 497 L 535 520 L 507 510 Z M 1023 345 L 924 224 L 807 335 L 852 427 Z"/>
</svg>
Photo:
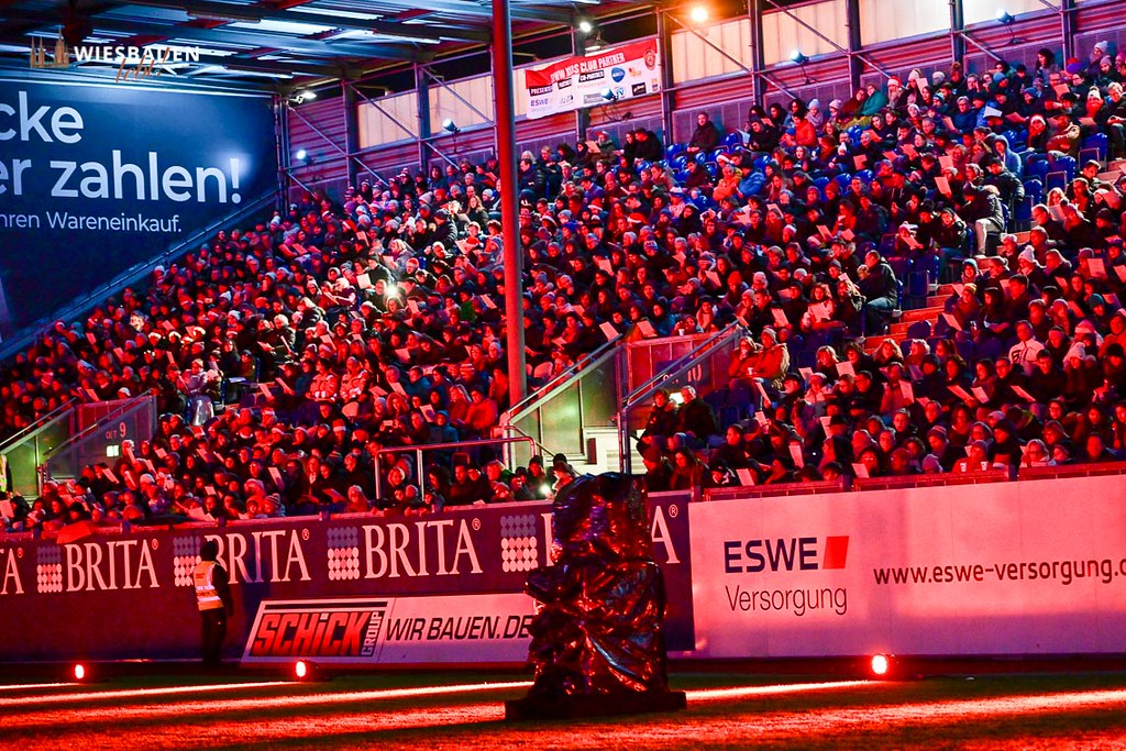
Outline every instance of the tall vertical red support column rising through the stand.
<svg viewBox="0 0 1126 751">
<path fill-rule="evenodd" d="M 512 79 L 512 20 L 509 0 L 493 3 L 493 122 L 497 127 L 497 160 L 500 162 L 500 215 L 504 239 L 504 323 L 508 341 L 510 403 L 528 393 L 524 360 L 524 250 L 520 248 L 520 198 L 516 179 L 516 107 Z"/>
</svg>

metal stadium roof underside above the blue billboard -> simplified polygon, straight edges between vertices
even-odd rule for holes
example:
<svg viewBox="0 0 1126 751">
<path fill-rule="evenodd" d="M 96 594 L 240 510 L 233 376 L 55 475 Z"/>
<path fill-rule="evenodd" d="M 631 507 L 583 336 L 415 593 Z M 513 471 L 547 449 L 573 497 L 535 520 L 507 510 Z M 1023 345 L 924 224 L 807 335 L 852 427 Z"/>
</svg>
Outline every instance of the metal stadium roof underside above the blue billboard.
<svg viewBox="0 0 1126 751">
<path fill-rule="evenodd" d="M 513 36 L 573 26 L 617 0 L 512 0 Z M 388 63 L 431 62 L 490 41 L 485 0 L 0 0 L 0 71 L 32 68 L 33 46 L 66 44 L 55 73 L 113 79 L 82 59 L 92 46 L 169 48 L 166 82 L 286 88 L 358 78 Z M 198 55 L 198 59 L 196 56 Z"/>
</svg>

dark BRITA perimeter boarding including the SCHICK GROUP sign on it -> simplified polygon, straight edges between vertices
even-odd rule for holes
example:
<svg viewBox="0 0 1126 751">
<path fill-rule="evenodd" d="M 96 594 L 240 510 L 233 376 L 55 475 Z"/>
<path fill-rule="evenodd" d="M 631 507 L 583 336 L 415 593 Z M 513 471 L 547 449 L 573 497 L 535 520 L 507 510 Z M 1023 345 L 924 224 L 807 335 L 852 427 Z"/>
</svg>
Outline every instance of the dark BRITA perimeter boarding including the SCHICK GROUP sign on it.
<svg viewBox="0 0 1126 751">
<path fill-rule="evenodd" d="M 651 516 L 669 650 L 690 651 L 687 502 L 654 500 Z M 0 539 L 0 661 L 198 656 L 191 570 L 208 538 L 235 602 L 227 658 L 522 663 L 524 583 L 548 563 L 551 504 Z"/>
</svg>

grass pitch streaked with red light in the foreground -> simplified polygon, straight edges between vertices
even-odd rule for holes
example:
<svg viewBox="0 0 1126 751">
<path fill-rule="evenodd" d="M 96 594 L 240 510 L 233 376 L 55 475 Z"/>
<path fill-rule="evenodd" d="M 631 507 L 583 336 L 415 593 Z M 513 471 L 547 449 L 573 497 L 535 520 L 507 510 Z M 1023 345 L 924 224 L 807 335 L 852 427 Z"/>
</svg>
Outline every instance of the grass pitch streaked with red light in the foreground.
<svg viewBox="0 0 1126 751">
<path fill-rule="evenodd" d="M 0 686 L 8 749 L 1126 749 L 1126 673 L 875 682 L 676 674 L 687 712 L 506 723 L 525 674 Z"/>
</svg>

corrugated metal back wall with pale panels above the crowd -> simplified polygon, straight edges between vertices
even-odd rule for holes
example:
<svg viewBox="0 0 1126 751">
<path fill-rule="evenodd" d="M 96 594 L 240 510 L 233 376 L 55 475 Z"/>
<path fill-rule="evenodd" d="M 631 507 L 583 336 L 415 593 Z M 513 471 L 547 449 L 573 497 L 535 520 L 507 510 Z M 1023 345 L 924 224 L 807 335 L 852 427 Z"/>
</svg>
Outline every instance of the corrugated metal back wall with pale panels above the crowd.
<svg viewBox="0 0 1126 751">
<path fill-rule="evenodd" d="M 998 10 L 994 0 L 963 1 L 967 23 L 967 71 L 991 69 L 994 54 L 1010 61 L 1031 63 L 1036 50 L 1042 46 L 1060 52 L 1058 14 L 1047 11 L 1039 0 L 1007 0 L 1006 9 L 1017 16 L 1017 23 L 1011 28 L 994 20 Z M 1120 1 L 1080 0 L 1073 15 L 1078 54 L 1085 56 L 1087 51 L 1101 39 L 1110 39 L 1119 47 L 1126 45 L 1126 28 L 1121 25 L 1124 9 L 1126 3 Z M 837 44 L 847 46 L 843 0 L 805 3 L 793 7 L 792 11 Z M 817 97 L 822 106 L 826 106 L 831 99 L 847 99 L 852 95 L 848 61 L 832 45 L 781 12 L 766 14 L 763 27 L 767 32 L 765 36 L 769 39 L 763 45 L 763 53 L 768 65 L 772 65 L 767 71 L 772 82 L 767 84 L 765 104 L 789 100 L 790 95 L 776 83 L 804 99 Z M 863 54 L 890 73 L 905 77 L 915 68 L 927 75 L 936 70 L 947 71 L 951 48 L 948 29 L 949 7 L 946 2 L 860 0 L 860 30 L 865 44 Z M 713 24 L 699 29 L 699 34 L 750 66 L 750 24 L 747 18 Z M 1010 44 L 1013 36 L 1017 43 Z M 750 75 L 704 39 L 682 29 L 672 35 L 672 56 L 670 61 L 665 61 L 667 64 L 672 64 L 673 79 L 677 81 L 671 96 L 671 138 L 669 134 L 661 133 L 661 100 L 656 96 L 593 108 L 590 110 L 591 127 L 609 132 L 619 143 L 624 132 L 635 127 L 658 132 L 665 143 L 685 141 L 695 127 L 695 115 L 699 110 L 708 111 L 725 128 L 742 127 L 753 101 Z M 795 47 L 813 57 L 804 70 L 788 62 L 789 53 Z M 522 74 L 524 69 L 517 70 L 517 84 Z M 807 77 L 811 79 L 808 84 L 805 82 Z M 884 80 L 882 72 L 863 63 L 863 83 L 874 81 L 883 84 Z M 430 118 L 435 131 L 438 131 L 446 118 L 453 119 L 463 128 L 456 136 L 443 134 L 432 140 L 446 157 L 455 161 L 462 158 L 475 161 L 493 152 L 493 128 L 482 117 L 482 114 L 490 115 L 493 110 L 491 83 L 489 77 L 448 83 L 462 98 L 480 109 L 481 114 L 474 113 L 465 101 L 446 88 L 438 84 L 430 87 Z M 417 127 L 414 97 L 414 92 L 408 92 L 377 101 L 403 125 Z M 419 149 L 414 137 L 390 117 L 376 111 L 373 105 L 361 101 L 358 109 L 361 149 L 358 161 L 384 175 L 403 167 L 412 171 L 417 169 Z M 314 186 L 346 179 L 343 155 L 303 122 L 302 117 L 307 118 L 324 136 L 343 149 L 345 119 L 341 100 L 318 100 L 298 106 L 289 115 L 289 133 L 293 150 L 303 147 L 312 157 L 310 164 L 294 171 L 295 177 Z M 520 151 L 529 150 L 535 153 L 542 145 L 573 142 L 575 124 L 574 113 L 538 120 L 519 119 L 517 146 Z M 436 153 L 429 152 L 429 155 L 431 163 L 445 163 Z"/>
</svg>

